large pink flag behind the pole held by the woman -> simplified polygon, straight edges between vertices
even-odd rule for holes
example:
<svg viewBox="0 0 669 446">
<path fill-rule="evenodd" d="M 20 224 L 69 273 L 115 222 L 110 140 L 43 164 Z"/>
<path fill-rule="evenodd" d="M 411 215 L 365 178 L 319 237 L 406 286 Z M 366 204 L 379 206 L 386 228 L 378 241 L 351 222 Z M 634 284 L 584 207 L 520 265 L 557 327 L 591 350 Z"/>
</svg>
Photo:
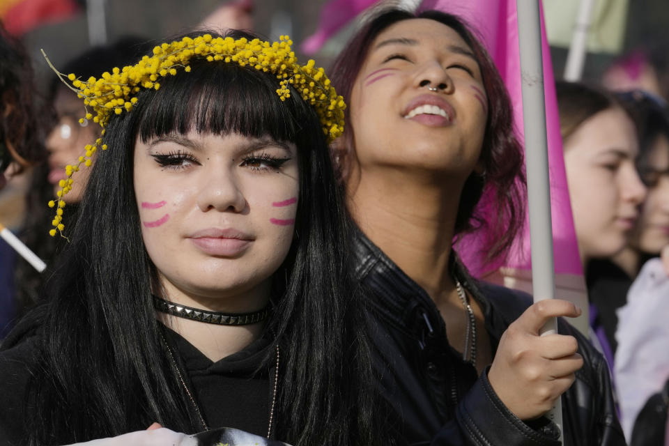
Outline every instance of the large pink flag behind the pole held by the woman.
<svg viewBox="0 0 669 446">
<path fill-rule="evenodd" d="M 523 102 L 521 95 L 521 68 L 518 54 L 518 23 L 516 0 L 424 0 L 421 10 L 436 9 L 462 17 L 483 39 L 502 78 L 509 89 L 513 106 L 516 128 L 521 141 L 523 139 Z M 543 11 L 541 13 L 541 39 L 544 56 L 544 86 L 546 98 L 546 130 L 548 134 L 548 162 L 551 180 L 551 210 L 553 217 L 553 244 L 556 274 L 583 275 L 578 254 L 578 243 L 571 216 L 567 176 L 564 172 L 562 139 L 560 138 L 560 118 L 555 99 L 555 79 L 551 52 L 546 38 Z M 494 225 L 495 222 L 490 222 Z M 477 249 L 477 236 L 469 237 L 459 245 L 459 253 L 468 264 L 472 273 L 482 275 L 486 266 L 480 264 L 480 252 Z M 465 252 L 463 252 L 463 250 Z M 523 236 L 509 253 L 505 266 L 521 270 L 531 268 L 530 231 L 525 222 Z M 487 266 L 488 270 L 494 266 Z"/>
</svg>

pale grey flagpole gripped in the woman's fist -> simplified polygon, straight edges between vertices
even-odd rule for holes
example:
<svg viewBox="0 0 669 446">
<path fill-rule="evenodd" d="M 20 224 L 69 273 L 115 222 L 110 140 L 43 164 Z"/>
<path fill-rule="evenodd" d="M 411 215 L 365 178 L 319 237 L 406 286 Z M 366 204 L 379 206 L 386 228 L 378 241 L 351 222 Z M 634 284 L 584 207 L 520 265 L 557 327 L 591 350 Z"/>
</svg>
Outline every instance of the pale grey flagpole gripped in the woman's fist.
<svg viewBox="0 0 669 446">
<path fill-rule="evenodd" d="M 544 98 L 544 61 L 541 54 L 541 15 L 539 0 L 516 0 L 518 42 L 523 84 L 525 165 L 528 173 L 528 211 L 532 255 L 532 294 L 535 302 L 555 298 L 553 264 L 553 224 L 551 188 L 548 177 L 548 139 Z M 557 332 L 557 319 L 546 323 L 541 334 Z M 560 428 L 562 441 L 562 401 L 547 414 Z"/>
</svg>

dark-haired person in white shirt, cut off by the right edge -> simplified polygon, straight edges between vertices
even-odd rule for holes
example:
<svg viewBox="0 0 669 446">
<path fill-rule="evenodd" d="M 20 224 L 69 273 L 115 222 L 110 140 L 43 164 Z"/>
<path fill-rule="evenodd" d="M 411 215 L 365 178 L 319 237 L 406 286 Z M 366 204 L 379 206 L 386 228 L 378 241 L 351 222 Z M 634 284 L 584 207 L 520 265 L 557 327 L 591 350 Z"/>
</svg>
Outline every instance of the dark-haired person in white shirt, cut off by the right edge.
<svg viewBox="0 0 669 446">
<path fill-rule="evenodd" d="M 636 163 L 648 194 L 629 243 L 610 261 L 634 282 L 626 300 L 599 305 L 615 354 L 623 430 L 631 445 L 651 446 L 663 442 L 669 401 L 669 278 L 658 258 L 669 249 L 669 107 L 644 91 L 619 97 L 637 123 Z"/>
</svg>

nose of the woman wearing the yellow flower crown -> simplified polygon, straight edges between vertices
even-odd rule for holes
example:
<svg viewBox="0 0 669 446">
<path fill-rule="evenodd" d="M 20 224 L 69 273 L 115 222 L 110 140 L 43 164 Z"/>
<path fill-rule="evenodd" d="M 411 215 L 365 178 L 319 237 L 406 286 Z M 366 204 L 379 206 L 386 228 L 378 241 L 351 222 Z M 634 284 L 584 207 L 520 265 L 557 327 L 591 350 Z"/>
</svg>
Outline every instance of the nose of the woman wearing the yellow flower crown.
<svg viewBox="0 0 669 446">
<path fill-rule="evenodd" d="M 202 212 L 241 213 L 247 206 L 239 180 L 228 169 L 222 169 L 216 163 L 206 166 L 199 181 L 197 207 Z"/>
</svg>

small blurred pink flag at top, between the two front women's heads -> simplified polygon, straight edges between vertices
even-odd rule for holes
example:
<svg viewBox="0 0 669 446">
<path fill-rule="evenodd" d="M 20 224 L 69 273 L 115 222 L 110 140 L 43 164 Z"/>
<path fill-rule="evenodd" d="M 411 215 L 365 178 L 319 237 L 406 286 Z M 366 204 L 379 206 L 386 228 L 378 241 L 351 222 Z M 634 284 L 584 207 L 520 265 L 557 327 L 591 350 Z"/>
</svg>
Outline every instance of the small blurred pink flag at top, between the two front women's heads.
<svg viewBox="0 0 669 446">
<path fill-rule="evenodd" d="M 314 54 L 323 44 L 339 31 L 353 17 L 362 13 L 379 0 L 330 0 L 321 9 L 321 20 L 318 21 L 316 33 L 302 43 L 302 51 Z"/>
</svg>

